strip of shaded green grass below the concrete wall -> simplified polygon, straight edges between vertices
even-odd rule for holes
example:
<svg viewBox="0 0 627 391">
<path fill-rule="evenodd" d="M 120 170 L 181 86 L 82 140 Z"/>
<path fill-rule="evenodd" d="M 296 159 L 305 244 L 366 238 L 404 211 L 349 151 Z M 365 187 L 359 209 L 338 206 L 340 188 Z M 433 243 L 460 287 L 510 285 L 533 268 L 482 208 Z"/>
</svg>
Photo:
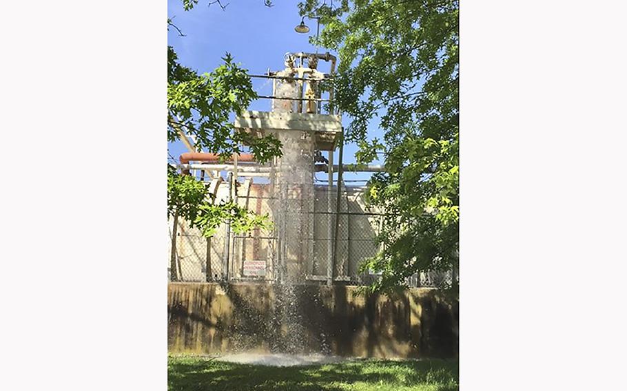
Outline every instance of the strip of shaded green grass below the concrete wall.
<svg viewBox="0 0 627 391">
<path fill-rule="evenodd" d="M 453 360 L 363 359 L 314 366 L 270 367 L 203 357 L 168 357 L 168 390 L 453 391 L 459 363 Z"/>
</svg>

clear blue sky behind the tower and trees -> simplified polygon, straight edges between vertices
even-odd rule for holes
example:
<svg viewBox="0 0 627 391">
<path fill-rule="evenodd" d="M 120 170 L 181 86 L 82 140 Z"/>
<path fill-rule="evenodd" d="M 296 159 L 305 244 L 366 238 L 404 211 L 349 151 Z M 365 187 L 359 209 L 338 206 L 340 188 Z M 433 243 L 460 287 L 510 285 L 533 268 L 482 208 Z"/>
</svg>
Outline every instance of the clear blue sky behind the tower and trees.
<svg viewBox="0 0 627 391">
<path fill-rule="evenodd" d="M 227 2 L 223 1 L 223 4 Z M 250 74 L 264 74 L 268 68 L 282 70 L 286 52 L 316 50 L 309 44 L 309 35 L 316 34 L 315 20 L 305 19 L 310 28 L 309 34 L 294 31 L 294 27 L 300 23 L 296 0 L 275 0 L 271 8 L 265 7 L 262 0 L 231 0 L 224 11 L 218 4 L 207 6 L 207 3 L 209 1 L 200 0 L 194 9 L 185 11 L 181 0 L 168 0 L 167 16 L 185 34 L 179 36 L 174 28 L 170 28 L 168 45 L 174 47 L 182 65 L 198 72 L 210 72 L 218 67 L 226 52 L 231 53 L 235 61 L 241 63 Z M 320 49 L 321 53 L 325 51 Z M 267 80 L 254 78 L 253 84 L 258 94 L 271 95 L 271 85 Z M 249 109 L 267 111 L 269 107 L 269 100 L 260 99 L 252 103 Z M 347 119 L 346 116 L 342 118 L 345 127 L 349 125 Z M 376 123 L 371 124 L 369 134 L 376 136 L 378 133 Z M 187 151 L 180 141 L 169 143 L 168 150 L 177 159 Z M 355 162 L 356 150 L 356 145 L 345 145 L 345 163 Z M 337 164 L 337 149 L 334 161 Z M 369 175 L 345 173 L 344 179 L 364 179 Z M 318 173 L 318 178 L 326 176 Z"/>
</svg>

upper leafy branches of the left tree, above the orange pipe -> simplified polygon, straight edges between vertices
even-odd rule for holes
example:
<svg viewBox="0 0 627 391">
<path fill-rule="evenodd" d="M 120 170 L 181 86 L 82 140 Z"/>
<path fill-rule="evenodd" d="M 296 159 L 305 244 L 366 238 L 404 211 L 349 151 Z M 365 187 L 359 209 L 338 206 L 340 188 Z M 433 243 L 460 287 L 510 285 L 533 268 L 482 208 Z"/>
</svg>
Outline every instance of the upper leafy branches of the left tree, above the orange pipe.
<svg viewBox="0 0 627 391">
<path fill-rule="evenodd" d="M 263 1 L 271 7 L 271 1 Z M 198 0 L 183 0 L 183 9 L 192 10 Z M 226 6 L 219 0 L 207 1 L 207 5 Z M 167 20 L 168 28 L 176 28 Z M 281 144 L 276 137 L 258 137 L 235 131 L 229 115 L 246 109 L 257 98 L 247 71 L 234 63 L 227 53 L 224 63 L 212 72 L 198 74 L 178 62 L 174 47 L 167 47 L 167 140 L 176 141 L 181 132 L 195 136 L 196 148 L 223 158 L 239 154 L 247 145 L 258 162 L 267 162 L 280 156 Z"/>
</svg>

